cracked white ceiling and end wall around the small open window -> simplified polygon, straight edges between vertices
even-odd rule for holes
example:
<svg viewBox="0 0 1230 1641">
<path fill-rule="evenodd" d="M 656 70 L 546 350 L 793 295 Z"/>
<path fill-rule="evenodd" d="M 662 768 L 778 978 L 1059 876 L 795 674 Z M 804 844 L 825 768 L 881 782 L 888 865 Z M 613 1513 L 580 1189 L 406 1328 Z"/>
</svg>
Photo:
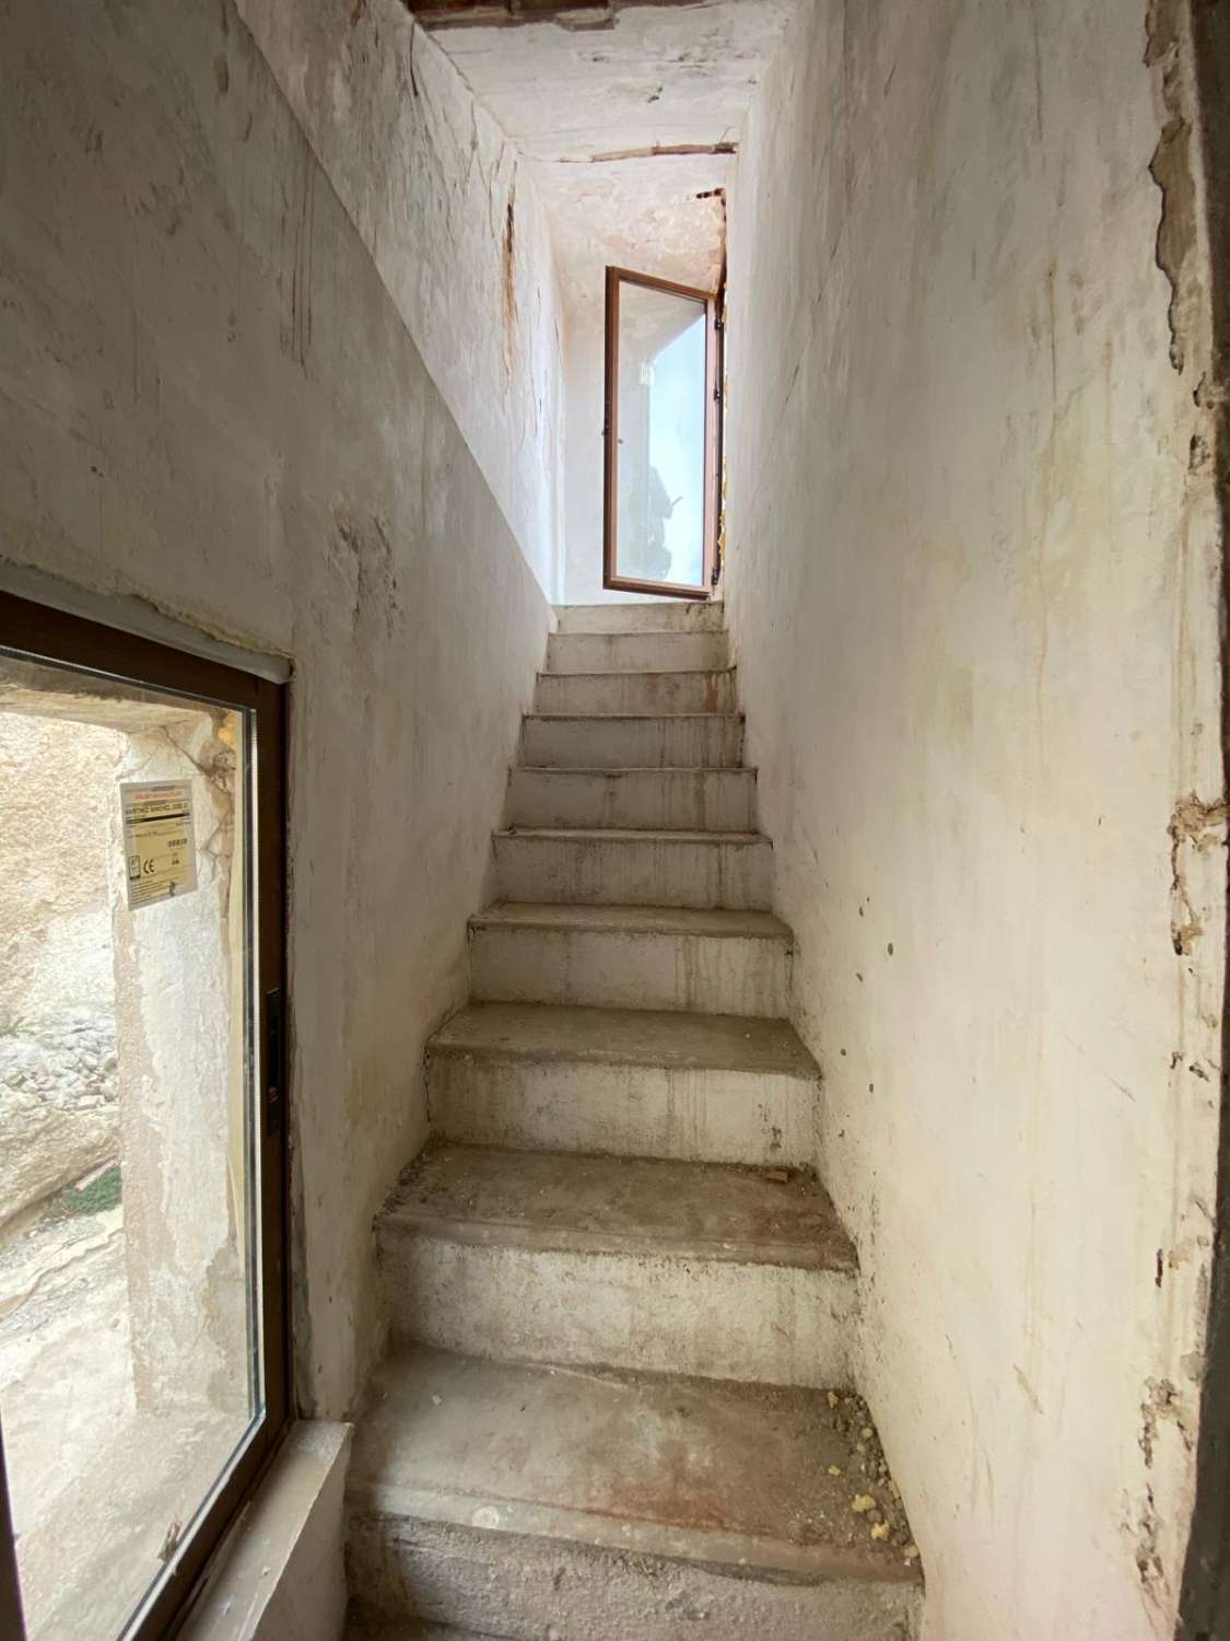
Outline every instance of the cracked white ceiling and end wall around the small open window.
<svg viewBox="0 0 1230 1641">
<path fill-rule="evenodd" d="M 549 228 L 564 312 L 569 602 L 623 597 L 602 591 L 605 269 L 717 289 L 743 121 L 799 3 L 613 5 L 600 34 L 581 15 L 525 8 L 513 21 L 476 7 L 431 31 L 515 146 Z"/>
</svg>

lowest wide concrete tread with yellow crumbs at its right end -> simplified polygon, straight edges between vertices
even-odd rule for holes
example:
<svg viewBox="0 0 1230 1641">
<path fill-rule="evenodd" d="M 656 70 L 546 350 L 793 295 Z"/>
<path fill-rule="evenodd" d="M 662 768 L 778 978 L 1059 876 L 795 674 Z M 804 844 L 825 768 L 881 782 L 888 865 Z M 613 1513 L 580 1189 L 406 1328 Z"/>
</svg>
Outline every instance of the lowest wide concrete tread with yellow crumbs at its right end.
<svg viewBox="0 0 1230 1641">
<path fill-rule="evenodd" d="M 853 1396 L 833 1410 L 825 1392 L 412 1347 L 384 1364 L 369 1400 L 348 1479 L 358 1511 L 738 1577 L 920 1580 L 904 1515 L 861 1470 L 866 1410 Z M 889 1506 L 891 1541 L 851 1510 L 859 1492 Z"/>
</svg>

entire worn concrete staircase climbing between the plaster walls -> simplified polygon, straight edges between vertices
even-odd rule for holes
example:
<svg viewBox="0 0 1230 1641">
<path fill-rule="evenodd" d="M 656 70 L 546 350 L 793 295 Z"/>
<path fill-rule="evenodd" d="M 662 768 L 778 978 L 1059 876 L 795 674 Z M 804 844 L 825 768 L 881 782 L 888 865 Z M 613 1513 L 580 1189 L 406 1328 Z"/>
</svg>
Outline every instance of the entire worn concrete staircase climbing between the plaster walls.
<svg viewBox="0 0 1230 1641">
<path fill-rule="evenodd" d="M 354 1638 L 912 1641 L 715 604 L 559 610 L 380 1216 Z"/>
</svg>

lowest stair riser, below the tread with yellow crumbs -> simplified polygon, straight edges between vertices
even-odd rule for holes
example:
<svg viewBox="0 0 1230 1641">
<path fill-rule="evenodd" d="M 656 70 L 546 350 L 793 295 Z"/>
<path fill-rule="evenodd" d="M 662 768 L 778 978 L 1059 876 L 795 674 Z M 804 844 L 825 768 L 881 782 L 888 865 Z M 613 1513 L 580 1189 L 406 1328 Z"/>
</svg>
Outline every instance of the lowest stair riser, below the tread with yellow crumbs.
<svg viewBox="0 0 1230 1641">
<path fill-rule="evenodd" d="M 351 1508 L 351 1588 L 510 1641 L 915 1641 L 913 1584 L 733 1579 L 697 1562 Z M 413 1634 L 413 1631 L 412 1631 Z M 431 1631 L 428 1631 L 431 1634 Z"/>
</svg>

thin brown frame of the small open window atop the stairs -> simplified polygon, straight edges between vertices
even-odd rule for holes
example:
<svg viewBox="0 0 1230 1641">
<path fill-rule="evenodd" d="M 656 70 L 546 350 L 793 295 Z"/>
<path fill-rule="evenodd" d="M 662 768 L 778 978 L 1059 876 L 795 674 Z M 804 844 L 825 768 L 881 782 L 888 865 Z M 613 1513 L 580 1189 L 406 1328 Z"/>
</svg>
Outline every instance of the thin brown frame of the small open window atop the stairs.
<svg viewBox="0 0 1230 1641">
<path fill-rule="evenodd" d="M 705 309 L 705 558 L 702 586 L 672 581 L 643 581 L 636 576 L 620 576 L 618 555 L 618 481 L 620 481 L 620 286 L 646 286 L 649 290 L 666 290 L 687 297 Z M 602 484 L 602 586 L 610 592 L 649 592 L 667 599 L 710 599 L 717 569 L 718 514 L 718 427 L 722 407 L 720 377 L 722 336 L 718 331 L 717 294 L 681 286 L 671 279 L 654 279 L 651 274 L 635 274 L 628 267 L 607 269 L 607 376 L 604 386 L 605 414 L 602 422 L 604 484 Z"/>
</svg>

